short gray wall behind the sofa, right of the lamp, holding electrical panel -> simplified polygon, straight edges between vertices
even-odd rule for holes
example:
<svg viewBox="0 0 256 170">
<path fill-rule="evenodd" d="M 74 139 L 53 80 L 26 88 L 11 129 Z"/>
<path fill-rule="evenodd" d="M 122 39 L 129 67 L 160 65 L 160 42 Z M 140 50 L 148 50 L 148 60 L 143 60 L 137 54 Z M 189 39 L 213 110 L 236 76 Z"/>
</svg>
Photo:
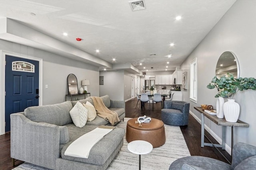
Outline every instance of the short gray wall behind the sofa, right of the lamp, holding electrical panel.
<svg viewBox="0 0 256 170">
<path fill-rule="evenodd" d="M 100 71 L 104 85 L 100 85 L 100 96 L 108 94 L 112 100 L 124 100 L 124 70 Z"/>
</svg>

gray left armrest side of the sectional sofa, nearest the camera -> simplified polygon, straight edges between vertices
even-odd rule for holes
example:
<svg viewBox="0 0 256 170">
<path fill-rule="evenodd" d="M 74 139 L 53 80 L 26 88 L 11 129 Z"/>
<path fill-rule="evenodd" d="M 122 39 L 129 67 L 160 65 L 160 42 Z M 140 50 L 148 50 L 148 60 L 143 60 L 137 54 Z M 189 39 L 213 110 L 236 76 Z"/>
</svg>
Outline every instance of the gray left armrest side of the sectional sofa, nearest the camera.
<svg viewBox="0 0 256 170">
<path fill-rule="evenodd" d="M 60 128 L 37 123 L 20 113 L 11 118 L 11 157 L 50 169 L 56 169 L 60 155 Z"/>
</svg>

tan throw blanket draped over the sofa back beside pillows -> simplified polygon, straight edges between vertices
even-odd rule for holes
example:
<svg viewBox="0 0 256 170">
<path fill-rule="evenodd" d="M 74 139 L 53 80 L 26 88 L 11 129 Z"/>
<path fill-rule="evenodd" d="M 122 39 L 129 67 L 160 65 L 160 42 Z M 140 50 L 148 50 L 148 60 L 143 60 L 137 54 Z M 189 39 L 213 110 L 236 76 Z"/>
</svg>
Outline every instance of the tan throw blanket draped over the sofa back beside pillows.
<svg viewBox="0 0 256 170">
<path fill-rule="evenodd" d="M 90 98 L 92 98 L 98 116 L 102 117 L 106 121 L 109 121 L 112 126 L 114 126 L 116 122 L 120 121 L 118 114 L 115 111 L 108 109 L 100 97 L 92 96 Z"/>
</svg>

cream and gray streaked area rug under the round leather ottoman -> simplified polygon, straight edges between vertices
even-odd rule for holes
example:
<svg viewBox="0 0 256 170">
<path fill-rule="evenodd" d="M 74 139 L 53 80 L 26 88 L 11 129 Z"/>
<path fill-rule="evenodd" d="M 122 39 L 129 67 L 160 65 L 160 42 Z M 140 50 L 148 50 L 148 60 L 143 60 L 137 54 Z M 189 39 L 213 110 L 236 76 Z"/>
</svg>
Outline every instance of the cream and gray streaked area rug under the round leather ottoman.
<svg viewBox="0 0 256 170">
<path fill-rule="evenodd" d="M 118 123 L 117 127 L 126 129 L 126 123 L 130 118 Z M 166 125 L 166 142 L 163 146 L 154 148 L 151 153 L 141 155 L 141 169 L 145 170 L 168 170 L 170 164 L 184 156 L 190 156 L 188 147 L 180 131 L 179 126 Z M 131 153 L 127 149 L 127 141 L 124 136 L 124 145 L 107 170 L 138 170 L 139 155 Z M 48 170 L 29 163 L 21 164 L 14 170 Z"/>
</svg>

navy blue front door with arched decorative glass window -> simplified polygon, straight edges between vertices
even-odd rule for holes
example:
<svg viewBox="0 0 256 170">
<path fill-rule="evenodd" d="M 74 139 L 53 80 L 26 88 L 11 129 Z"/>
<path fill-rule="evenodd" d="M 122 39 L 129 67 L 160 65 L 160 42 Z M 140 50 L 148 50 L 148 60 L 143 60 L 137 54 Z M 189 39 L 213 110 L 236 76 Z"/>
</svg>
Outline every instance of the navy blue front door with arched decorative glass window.
<svg viewBox="0 0 256 170">
<path fill-rule="evenodd" d="M 10 131 L 10 114 L 38 106 L 39 61 L 6 55 L 5 131 Z"/>
</svg>

